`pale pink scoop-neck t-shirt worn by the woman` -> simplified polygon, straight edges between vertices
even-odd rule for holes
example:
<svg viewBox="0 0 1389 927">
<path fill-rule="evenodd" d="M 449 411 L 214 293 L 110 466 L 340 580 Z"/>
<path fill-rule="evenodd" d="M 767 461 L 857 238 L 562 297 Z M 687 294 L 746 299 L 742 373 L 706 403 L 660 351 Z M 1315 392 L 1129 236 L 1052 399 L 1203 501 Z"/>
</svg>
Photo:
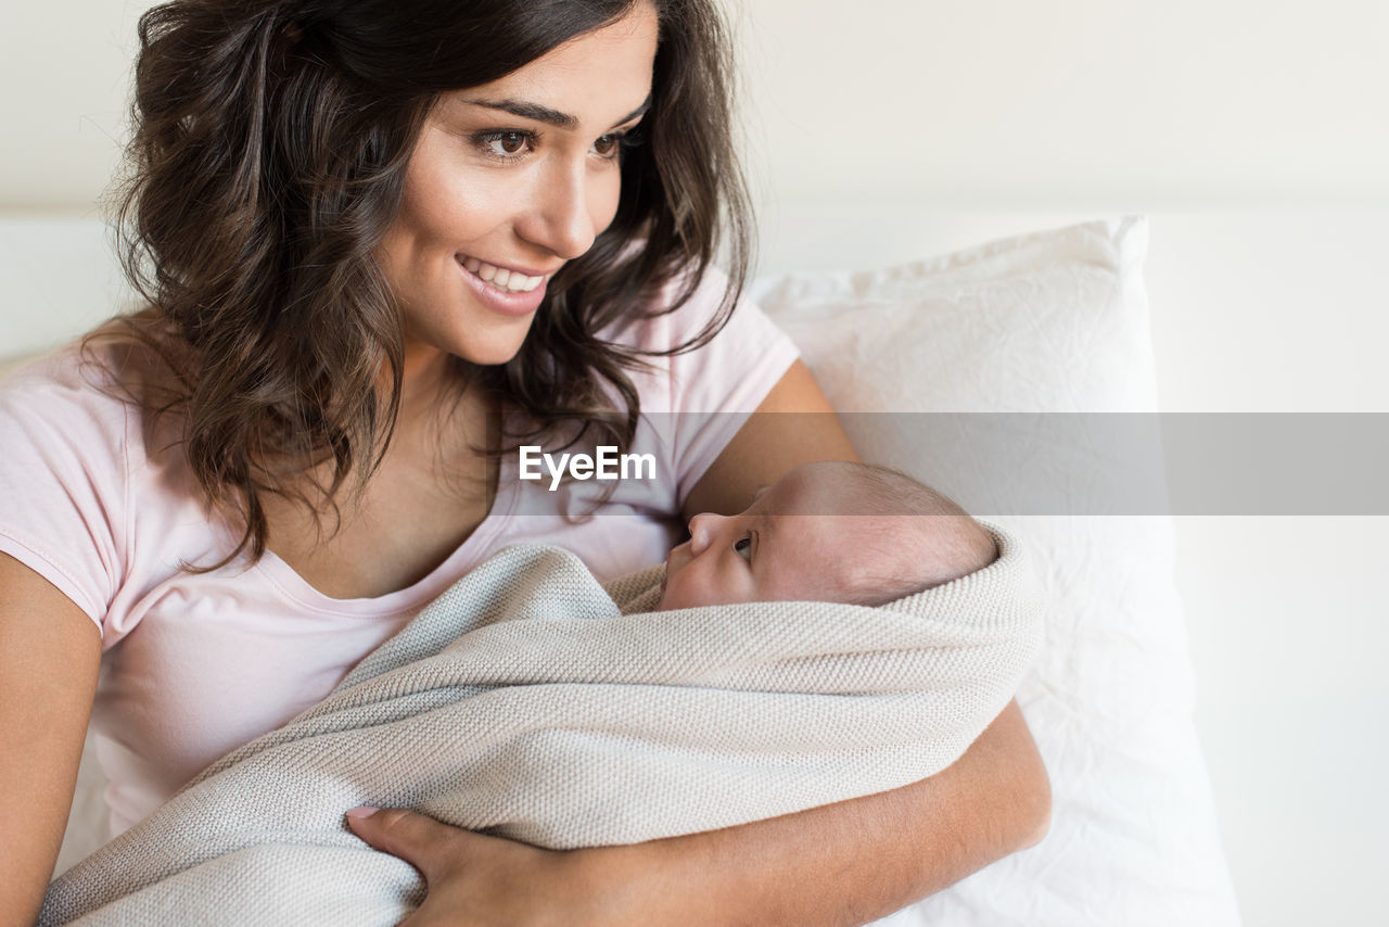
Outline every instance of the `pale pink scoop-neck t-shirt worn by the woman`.
<svg viewBox="0 0 1389 927">
<path fill-rule="evenodd" d="M 629 324 L 625 343 L 665 349 L 711 317 L 724 278 L 710 274 L 679 311 Z M 613 488 L 600 514 L 572 518 L 599 484 L 519 481 L 503 463 L 492 511 L 419 582 L 374 599 L 332 599 L 267 553 L 210 574 L 233 534 L 210 521 L 182 454 L 147 442 L 138 409 L 97 388 L 99 367 L 69 349 L 0 386 L 0 550 L 42 574 L 101 631 L 93 709 L 97 755 L 119 832 L 208 763 L 319 702 L 429 600 L 496 550 L 553 543 L 599 578 L 660 561 L 681 504 L 796 349 L 753 304 L 707 346 L 651 359 L 631 374 L 643 421 L 632 453 L 657 479 Z M 718 413 L 718 414 L 700 414 Z M 542 467 L 543 470 L 543 467 Z M 647 470 L 649 471 L 649 470 Z M 643 474 L 644 475 L 644 474 Z"/>
</svg>

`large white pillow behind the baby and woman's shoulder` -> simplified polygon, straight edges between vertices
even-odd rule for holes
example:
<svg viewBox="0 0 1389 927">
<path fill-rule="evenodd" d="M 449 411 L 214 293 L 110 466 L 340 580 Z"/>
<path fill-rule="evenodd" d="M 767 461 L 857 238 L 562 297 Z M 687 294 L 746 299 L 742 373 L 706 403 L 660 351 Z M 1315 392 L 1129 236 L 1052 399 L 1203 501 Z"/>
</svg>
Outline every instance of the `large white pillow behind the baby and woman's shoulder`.
<svg viewBox="0 0 1389 927">
<path fill-rule="evenodd" d="M 1146 218 L 1122 217 L 876 272 L 764 278 L 750 295 L 842 413 L 1151 413 L 1146 250 Z M 929 417 L 842 418 L 865 460 L 946 492 L 968 485 L 968 454 L 938 448 Z M 881 923 L 1238 924 L 1192 720 L 1170 518 L 976 514 L 1024 536 L 1049 591 L 1046 645 L 1018 703 L 1051 777 L 1051 830 Z"/>
</svg>

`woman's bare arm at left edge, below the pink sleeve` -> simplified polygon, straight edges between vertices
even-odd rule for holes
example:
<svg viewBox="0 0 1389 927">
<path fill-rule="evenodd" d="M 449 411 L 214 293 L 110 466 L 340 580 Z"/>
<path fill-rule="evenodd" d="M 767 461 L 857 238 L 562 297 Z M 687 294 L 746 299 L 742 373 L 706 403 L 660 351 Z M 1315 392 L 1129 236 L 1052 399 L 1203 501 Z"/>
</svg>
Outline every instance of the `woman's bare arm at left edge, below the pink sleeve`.
<svg viewBox="0 0 1389 927">
<path fill-rule="evenodd" d="M 28 927 L 63 844 L 101 662 L 92 620 L 0 553 L 0 924 Z"/>
</svg>

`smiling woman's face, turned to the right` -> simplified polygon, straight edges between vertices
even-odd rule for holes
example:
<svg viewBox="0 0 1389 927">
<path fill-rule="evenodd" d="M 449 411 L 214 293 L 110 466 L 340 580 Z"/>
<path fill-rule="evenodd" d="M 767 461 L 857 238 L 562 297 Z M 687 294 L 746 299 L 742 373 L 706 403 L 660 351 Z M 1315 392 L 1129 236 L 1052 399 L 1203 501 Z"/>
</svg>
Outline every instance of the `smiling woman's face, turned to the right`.
<svg viewBox="0 0 1389 927">
<path fill-rule="evenodd" d="M 544 288 L 617 214 L 621 138 L 651 92 L 649 3 L 499 81 L 444 93 L 376 260 L 406 320 L 407 370 L 501 364 Z"/>
</svg>

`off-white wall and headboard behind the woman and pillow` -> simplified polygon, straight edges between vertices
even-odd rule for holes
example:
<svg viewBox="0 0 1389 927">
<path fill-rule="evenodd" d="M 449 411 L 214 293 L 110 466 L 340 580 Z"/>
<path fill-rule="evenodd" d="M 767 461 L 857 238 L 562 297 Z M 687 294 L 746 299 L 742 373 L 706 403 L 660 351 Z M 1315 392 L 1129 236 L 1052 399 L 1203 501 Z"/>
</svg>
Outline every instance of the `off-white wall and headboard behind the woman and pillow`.
<svg viewBox="0 0 1389 927">
<path fill-rule="evenodd" d="M 146 6 L 7 8 L 0 218 L 99 214 Z M 1389 411 L 1389 4 L 728 6 L 764 270 L 1149 213 L 1164 409 Z M 0 354 L 106 309 L 53 317 L 38 302 L 0 302 Z M 1197 724 L 1249 924 L 1381 916 L 1386 527 L 1178 520 Z"/>
</svg>

